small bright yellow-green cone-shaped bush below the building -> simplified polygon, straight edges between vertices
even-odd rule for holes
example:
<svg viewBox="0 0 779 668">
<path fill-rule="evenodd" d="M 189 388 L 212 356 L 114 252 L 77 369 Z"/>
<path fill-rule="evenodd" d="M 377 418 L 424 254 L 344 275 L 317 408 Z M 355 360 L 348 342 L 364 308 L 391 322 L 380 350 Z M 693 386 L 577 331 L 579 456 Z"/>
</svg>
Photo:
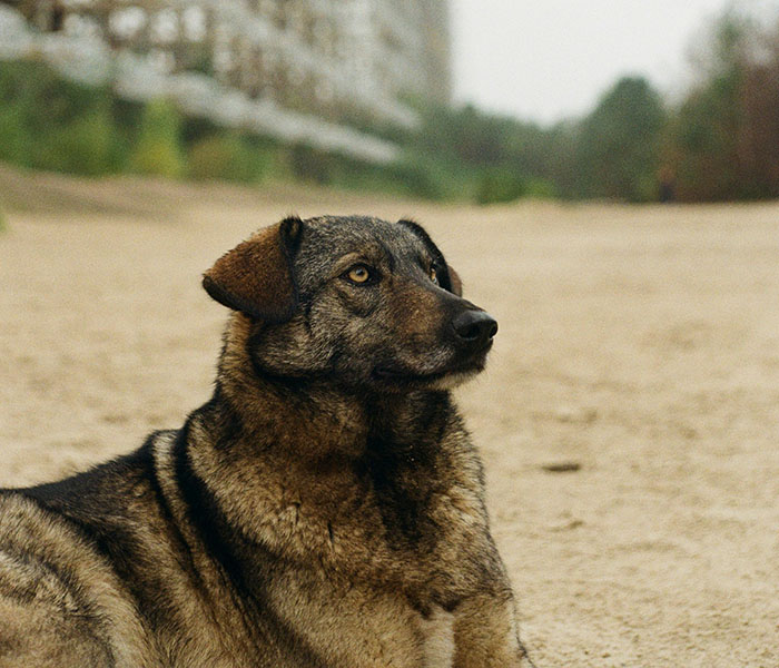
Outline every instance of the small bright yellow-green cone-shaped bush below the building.
<svg viewBox="0 0 779 668">
<path fill-rule="evenodd" d="M 137 174 L 178 178 L 185 171 L 181 151 L 180 117 L 168 100 L 146 105 L 128 167 Z"/>
</svg>

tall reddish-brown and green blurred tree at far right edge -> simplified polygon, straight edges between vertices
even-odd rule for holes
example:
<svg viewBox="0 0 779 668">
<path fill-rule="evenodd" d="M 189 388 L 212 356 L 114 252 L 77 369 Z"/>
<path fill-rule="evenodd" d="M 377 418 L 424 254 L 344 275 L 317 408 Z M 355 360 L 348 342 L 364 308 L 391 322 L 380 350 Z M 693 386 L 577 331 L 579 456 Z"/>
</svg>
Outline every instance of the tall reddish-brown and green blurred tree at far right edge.
<svg viewBox="0 0 779 668">
<path fill-rule="evenodd" d="M 779 27 L 728 13 L 704 46 L 701 79 L 665 136 L 679 197 L 779 197 Z"/>
</svg>

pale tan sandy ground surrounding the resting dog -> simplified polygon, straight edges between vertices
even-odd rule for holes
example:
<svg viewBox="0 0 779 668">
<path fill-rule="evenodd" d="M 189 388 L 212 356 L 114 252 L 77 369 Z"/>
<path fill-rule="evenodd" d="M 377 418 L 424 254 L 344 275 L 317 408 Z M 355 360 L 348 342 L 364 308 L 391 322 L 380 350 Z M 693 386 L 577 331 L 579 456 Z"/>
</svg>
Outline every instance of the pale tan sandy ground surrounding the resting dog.
<svg viewBox="0 0 779 668">
<path fill-rule="evenodd" d="M 413 215 L 500 322 L 458 394 L 538 665 L 779 666 L 779 205 L 476 209 L 8 169 L 1 198 L 0 484 L 127 452 L 209 396 L 226 313 L 199 275 L 254 228 Z"/>
</svg>

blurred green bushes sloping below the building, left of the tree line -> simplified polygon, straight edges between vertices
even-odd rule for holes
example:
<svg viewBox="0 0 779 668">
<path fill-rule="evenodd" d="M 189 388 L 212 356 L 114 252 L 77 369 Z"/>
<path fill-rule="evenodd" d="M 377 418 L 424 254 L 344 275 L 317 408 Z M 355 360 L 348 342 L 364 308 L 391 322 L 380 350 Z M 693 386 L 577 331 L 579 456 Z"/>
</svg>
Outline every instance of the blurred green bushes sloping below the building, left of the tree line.
<svg viewBox="0 0 779 668">
<path fill-rule="evenodd" d="M 418 156 L 377 166 L 305 145 L 183 116 L 70 81 L 37 61 L 0 61 L 0 160 L 31 169 L 101 176 L 146 174 L 259 184 L 290 179 L 342 188 L 443 198 L 434 165 Z M 441 175 L 445 178 L 445 175 Z"/>
</svg>

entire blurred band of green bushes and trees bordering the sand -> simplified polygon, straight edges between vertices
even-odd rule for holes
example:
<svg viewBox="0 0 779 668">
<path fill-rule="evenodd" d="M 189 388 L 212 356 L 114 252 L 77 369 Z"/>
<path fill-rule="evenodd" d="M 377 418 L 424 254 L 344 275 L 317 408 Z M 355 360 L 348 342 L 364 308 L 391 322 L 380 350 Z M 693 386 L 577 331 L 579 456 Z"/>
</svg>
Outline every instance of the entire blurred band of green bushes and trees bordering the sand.
<svg viewBox="0 0 779 668">
<path fill-rule="evenodd" d="M 285 179 L 480 204 L 779 197 L 779 28 L 728 12 L 699 46 L 698 80 L 673 105 L 624 77 L 585 117 L 552 127 L 472 106 L 416 105 L 415 131 L 352 119 L 401 147 L 383 166 L 187 118 L 166 100 L 120 100 L 40 62 L 0 62 L 0 159 L 87 176 Z"/>
</svg>

